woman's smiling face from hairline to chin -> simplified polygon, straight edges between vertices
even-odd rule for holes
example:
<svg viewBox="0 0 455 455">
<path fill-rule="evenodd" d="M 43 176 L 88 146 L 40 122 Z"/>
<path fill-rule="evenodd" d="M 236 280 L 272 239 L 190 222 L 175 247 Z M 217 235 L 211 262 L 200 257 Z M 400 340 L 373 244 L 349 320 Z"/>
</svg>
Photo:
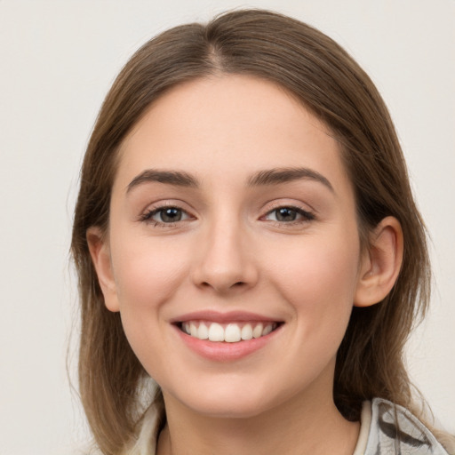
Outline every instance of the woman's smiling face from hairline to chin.
<svg viewBox="0 0 455 455">
<path fill-rule="evenodd" d="M 106 304 L 166 405 L 331 397 L 361 268 L 353 188 L 275 84 L 213 76 L 156 101 L 121 148 L 103 254 Z"/>
</svg>

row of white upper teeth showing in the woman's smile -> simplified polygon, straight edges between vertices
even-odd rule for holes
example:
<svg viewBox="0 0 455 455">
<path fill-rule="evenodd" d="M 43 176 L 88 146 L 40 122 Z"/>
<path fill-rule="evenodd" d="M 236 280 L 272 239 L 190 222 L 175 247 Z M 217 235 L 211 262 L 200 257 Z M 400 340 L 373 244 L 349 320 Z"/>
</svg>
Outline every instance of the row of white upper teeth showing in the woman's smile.
<svg viewBox="0 0 455 455">
<path fill-rule="evenodd" d="M 181 324 L 185 333 L 198 339 L 235 343 L 242 339 L 259 338 L 276 328 L 276 323 L 204 323 L 188 321 Z"/>
</svg>

